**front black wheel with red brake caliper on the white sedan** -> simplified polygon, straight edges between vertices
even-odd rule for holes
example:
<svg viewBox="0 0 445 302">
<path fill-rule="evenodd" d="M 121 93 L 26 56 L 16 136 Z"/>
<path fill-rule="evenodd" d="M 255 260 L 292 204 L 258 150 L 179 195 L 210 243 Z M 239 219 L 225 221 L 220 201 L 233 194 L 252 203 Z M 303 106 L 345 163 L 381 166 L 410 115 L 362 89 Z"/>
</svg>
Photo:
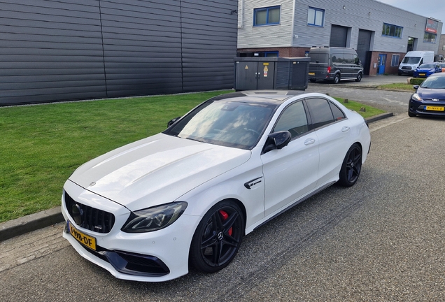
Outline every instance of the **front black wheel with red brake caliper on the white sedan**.
<svg viewBox="0 0 445 302">
<path fill-rule="evenodd" d="M 234 259 L 244 235 L 244 217 L 233 201 L 221 201 L 202 217 L 190 245 L 190 264 L 215 273 Z"/>
</svg>

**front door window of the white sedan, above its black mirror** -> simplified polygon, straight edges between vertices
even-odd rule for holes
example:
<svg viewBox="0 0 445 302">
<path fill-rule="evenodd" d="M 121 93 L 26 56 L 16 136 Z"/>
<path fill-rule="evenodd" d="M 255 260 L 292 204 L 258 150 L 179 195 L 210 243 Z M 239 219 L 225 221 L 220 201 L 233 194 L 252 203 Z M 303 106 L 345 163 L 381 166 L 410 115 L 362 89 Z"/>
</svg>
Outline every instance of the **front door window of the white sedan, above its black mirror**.
<svg viewBox="0 0 445 302">
<path fill-rule="evenodd" d="M 292 103 L 283 110 L 272 132 L 285 130 L 292 134 L 292 138 L 308 131 L 306 111 L 302 101 Z"/>
</svg>

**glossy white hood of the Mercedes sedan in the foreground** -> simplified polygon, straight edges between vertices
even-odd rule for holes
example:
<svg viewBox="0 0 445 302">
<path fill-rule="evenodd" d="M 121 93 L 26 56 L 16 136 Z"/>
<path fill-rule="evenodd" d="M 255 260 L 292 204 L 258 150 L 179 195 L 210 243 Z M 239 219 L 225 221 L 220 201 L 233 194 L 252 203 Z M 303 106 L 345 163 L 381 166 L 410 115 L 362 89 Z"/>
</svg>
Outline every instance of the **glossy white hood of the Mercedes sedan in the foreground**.
<svg viewBox="0 0 445 302">
<path fill-rule="evenodd" d="M 249 150 L 157 134 L 88 161 L 69 180 L 139 210 L 175 201 L 249 158 Z"/>
</svg>

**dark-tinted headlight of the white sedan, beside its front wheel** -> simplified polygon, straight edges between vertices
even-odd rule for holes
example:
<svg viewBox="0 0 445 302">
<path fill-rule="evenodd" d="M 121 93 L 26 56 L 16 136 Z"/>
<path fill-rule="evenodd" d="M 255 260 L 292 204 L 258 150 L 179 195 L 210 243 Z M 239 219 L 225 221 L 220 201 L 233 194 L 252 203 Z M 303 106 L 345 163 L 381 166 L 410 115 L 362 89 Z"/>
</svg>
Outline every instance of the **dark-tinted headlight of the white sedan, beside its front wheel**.
<svg viewBox="0 0 445 302">
<path fill-rule="evenodd" d="M 132 212 L 121 231 L 146 233 L 164 229 L 174 223 L 184 213 L 185 208 L 187 203 L 180 201 Z"/>
</svg>

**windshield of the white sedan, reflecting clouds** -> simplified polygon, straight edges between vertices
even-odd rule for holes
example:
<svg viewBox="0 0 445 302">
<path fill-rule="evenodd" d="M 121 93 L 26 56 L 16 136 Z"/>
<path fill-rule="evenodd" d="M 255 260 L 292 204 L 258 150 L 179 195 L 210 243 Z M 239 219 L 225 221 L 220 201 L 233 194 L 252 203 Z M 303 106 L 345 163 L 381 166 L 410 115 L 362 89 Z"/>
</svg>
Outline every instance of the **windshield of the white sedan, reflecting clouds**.
<svg viewBox="0 0 445 302">
<path fill-rule="evenodd" d="M 242 101 L 207 101 L 164 134 L 249 150 L 257 143 L 276 106 Z"/>
</svg>

